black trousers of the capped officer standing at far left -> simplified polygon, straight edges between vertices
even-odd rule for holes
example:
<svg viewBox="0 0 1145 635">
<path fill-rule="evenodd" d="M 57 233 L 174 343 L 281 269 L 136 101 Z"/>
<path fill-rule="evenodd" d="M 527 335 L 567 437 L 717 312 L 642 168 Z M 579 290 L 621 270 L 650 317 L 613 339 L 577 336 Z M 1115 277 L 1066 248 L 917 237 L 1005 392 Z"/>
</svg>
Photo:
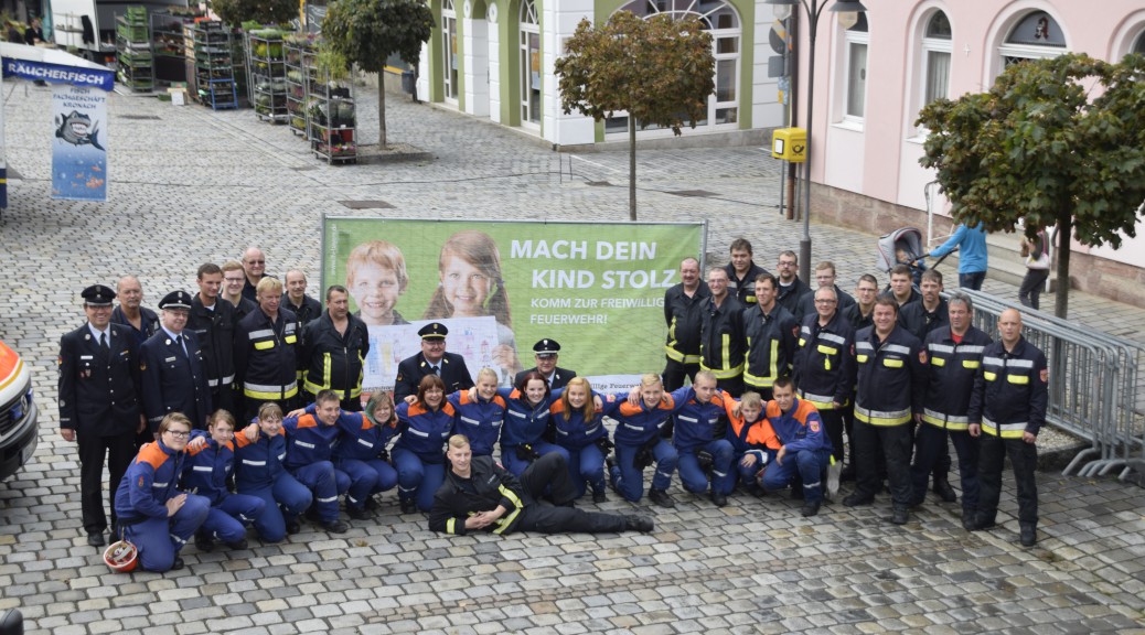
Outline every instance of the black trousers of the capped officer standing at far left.
<svg viewBox="0 0 1145 635">
<path fill-rule="evenodd" d="M 135 430 L 110 437 L 76 430 L 76 444 L 79 446 L 79 497 L 84 531 L 102 533 L 108 529 L 108 516 L 103 511 L 103 460 L 108 460 L 108 507 L 111 509 L 111 523 L 114 524 L 116 490 L 135 458 Z"/>
</svg>

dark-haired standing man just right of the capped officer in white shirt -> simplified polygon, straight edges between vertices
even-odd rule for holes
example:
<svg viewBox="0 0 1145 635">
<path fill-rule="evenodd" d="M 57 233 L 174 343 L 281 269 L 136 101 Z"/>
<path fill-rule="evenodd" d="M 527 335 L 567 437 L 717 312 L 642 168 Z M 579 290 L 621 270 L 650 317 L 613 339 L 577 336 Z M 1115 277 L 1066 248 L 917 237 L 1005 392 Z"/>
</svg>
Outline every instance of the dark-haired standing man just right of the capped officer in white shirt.
<svg viewBox="0 0 1145 635">
<path fill-rule="evenodd" d="M 235 305 L 222 301 L 222 269 L 206 263 L 199 267 L 199 292 L 191 297 L 187 330 L 195 333 L 203 350 L 203 370 L 211 390 L 211 406 L 240 414 L 235 408 Z"/>
</svg>

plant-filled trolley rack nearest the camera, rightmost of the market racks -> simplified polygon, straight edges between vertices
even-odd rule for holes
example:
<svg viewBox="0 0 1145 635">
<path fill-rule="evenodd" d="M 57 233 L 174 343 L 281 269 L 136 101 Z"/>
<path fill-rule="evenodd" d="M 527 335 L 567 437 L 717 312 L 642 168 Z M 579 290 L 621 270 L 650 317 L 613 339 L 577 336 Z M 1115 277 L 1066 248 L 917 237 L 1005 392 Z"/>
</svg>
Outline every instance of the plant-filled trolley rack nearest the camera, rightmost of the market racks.
<svg viewBox="0 0 1145 635">
<path fill-rule="evenodd" d="M 313 51 L 303 54 L 302 61 L 307 66 L 306 112 L 310 150 L 327 164 L 357 162 L 354 82 L 331 79 L 327 71 L 317 66 Z"/>
</svg>

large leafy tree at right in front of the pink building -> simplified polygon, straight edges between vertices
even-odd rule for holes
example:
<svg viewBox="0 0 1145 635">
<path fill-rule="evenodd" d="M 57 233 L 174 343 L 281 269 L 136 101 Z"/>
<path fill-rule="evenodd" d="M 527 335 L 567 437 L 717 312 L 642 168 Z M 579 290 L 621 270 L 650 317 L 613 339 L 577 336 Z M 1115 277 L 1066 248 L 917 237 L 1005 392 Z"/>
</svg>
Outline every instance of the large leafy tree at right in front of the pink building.
<svg viewBox="0 0 1145 635">
<path fill-rule="evenodd" d="M 1071 239 L 1134 237 L 1145 201 L 1145 57 L 1068 54 L 1011 65 L 988 93 L 938 100 L 919 162 L 938 170 L 954 220 L 1026 236 L 1056 225 L 1059 292 L 1069 303 Z"/>
</svg>

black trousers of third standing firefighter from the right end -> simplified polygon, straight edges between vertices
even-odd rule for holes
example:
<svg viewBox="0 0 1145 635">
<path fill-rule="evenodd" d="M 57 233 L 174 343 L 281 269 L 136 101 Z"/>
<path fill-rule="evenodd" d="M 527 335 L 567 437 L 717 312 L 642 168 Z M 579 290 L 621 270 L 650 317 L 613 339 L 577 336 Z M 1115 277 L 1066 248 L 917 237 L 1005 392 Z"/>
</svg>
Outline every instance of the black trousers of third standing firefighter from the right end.
<svg viewBox="0 0 1145 635">
<path fill-rule="evenodd" d="M 895 507 L 909 507 L 910 487 L 910 427 L 871 426 L 854 422 L 855 494 L 874 498 L 879 491 L 878 450 L 886 458 L 886 479 Z"/>
</svg>

